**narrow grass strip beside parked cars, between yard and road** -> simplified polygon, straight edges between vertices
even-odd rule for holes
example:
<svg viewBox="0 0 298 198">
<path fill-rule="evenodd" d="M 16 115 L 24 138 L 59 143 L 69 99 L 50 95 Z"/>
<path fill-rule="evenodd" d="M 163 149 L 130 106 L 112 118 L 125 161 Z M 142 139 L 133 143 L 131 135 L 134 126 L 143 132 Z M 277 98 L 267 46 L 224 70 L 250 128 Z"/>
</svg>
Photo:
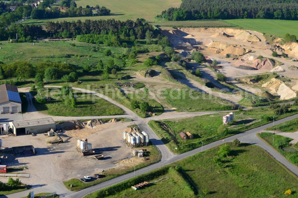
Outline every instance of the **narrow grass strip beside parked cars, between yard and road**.
<svg viewBox="0 0 298 198">
<path fill-rule="evenodd" d="M 160 161 L 160 159 L 162 158 L 162 155 L 161 155 L 160 151 L 156 148 L 156 146 L 150 145 L 150 146 L 146 147 L 146 149 L 147 149 L 147 153 L 146 153 L 147 160 L 145 160 L 145 158 L 144 158 L 144 163 L 136 165 L 135 166 L 136 170 L 144 168 L 151 164 L 154 164 L 154 163 Z M 103 177 L 101 179 L 94 180 L 92 182 L 83 183 L 79 179 L 71 179 L 71 180 L 63 182 L 63 184 L 66 186 L 67 189 L 69 189 L 70 185 L 73 184 L 73 187 L 71 188 L 71 190 L 79 191 L 84 188 L 88 188 L 90 186 L 94 186 L 96 184 L 103 183 L 107 180 L 113 179 L 115 177 L 119 177 L 121 175 L 125 175 L 125 174 L 133 172 L 133 171 L 134 171 L 134 166 L 129 166 L 124 169 L 113 168 L 113 169 L 105 170 L 104 173 L 99 172 L 99 174 L 103 174 L 103 175 L 105 175 L 105 177 Z"/>
</svg>

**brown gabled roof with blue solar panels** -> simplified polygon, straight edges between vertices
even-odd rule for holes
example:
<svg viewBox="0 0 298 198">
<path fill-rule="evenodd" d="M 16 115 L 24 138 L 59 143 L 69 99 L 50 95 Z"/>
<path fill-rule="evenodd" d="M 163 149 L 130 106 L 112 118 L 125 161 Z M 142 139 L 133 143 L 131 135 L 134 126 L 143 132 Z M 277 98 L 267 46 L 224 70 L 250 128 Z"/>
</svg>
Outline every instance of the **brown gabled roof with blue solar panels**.
<svg viewBox="0 0 298 198">
<path fill-rule="evenodd" d="M 22 103 L 20 94 L 18 93 L 18 88 L 11 84 L 1 84 L 0 85 L 0 103 L 5 102 L 16 102 Z"/>
</svg>

